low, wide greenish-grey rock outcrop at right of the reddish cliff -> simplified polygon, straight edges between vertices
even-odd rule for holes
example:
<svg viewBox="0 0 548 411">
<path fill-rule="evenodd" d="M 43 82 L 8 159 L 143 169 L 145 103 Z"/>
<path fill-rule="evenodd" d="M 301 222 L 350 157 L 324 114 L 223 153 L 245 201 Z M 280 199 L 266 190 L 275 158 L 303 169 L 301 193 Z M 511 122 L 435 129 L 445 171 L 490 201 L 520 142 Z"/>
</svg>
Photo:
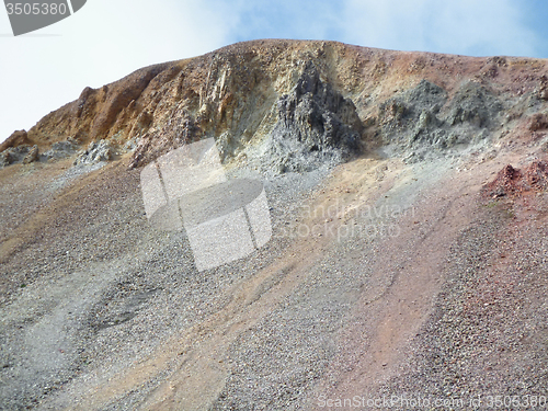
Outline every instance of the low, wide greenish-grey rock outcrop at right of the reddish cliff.
<svg viewBox="0 0 548 411">
<path fill-rule="evenodd" d="M 422 80 L 379 106 L 383 142 L 420 160 L 489 137 L 502 103 L 486 87 L 464 83 L 448 100 L 441 87 Z"/>
</svg>

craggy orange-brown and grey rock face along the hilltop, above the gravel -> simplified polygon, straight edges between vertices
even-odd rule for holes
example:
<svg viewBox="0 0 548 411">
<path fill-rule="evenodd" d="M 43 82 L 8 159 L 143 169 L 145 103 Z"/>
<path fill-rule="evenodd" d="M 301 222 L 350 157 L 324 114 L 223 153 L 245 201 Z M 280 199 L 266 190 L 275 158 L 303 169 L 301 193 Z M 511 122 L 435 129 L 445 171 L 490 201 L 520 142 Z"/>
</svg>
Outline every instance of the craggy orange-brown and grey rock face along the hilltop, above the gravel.
<svg viewBox="0 0 548 411">
<path fill-rule="evenodd" d="M 85 88 L 28 133 L 14 133 L 0 151 L 37 145 L 50 158 L 55 148 L 106 140 L 136 145 L 130 167 L 139 167 L 185 142 L 215 137 L 225 162 L 247 159 L 273 171 L 340 162 L 378 146 L 421 159 L 516 127 L 525 134 L 548 127 L 546 69 L 546 61 L 526 58 L 331 42 L 241 43 Z M 3 158 L 8 163 L 18 156 Z"/>
</svg>

